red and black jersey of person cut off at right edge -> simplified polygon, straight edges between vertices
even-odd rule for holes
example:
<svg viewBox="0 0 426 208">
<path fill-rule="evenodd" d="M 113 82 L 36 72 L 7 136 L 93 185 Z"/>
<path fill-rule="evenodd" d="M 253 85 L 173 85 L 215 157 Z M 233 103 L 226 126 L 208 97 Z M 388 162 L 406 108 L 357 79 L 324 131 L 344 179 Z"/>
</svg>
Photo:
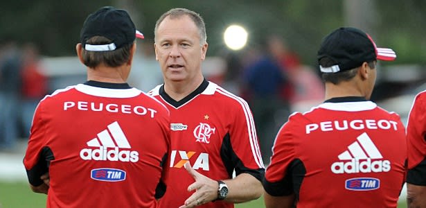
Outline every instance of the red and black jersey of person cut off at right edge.
<svg viewBox="0 0 426 208">
<path fill-rule="evenodd" d="M 407 182 L 426 186 L 426 92 L 414 99 L 407 123 Z"/>
</svg>

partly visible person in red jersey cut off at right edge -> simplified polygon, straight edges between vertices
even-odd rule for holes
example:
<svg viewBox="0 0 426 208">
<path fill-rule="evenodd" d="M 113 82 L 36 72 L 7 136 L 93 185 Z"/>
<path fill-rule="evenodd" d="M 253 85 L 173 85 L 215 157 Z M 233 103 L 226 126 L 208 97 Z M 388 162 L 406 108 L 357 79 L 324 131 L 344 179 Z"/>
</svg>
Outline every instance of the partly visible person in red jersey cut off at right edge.
<svg viewBox="0 0 426 208">
<path fill-rule="evenodd" d="M 426 91 L 414 98 L 407 122 L 407 205 L 426 207 Z"/>
</svg>

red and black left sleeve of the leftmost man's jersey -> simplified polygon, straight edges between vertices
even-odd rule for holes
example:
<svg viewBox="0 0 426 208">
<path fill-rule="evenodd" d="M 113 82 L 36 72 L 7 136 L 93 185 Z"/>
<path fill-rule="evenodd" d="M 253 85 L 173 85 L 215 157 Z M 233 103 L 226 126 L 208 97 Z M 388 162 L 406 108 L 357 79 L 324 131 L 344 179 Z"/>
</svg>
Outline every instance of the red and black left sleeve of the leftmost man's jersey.
<svg viewBox="0 0 426 208">
<path fill-rule="evenodd" d="M 24 166 L 26 168 L 28 181 L 36 187 L 42 184 L 42 180 L 40 180 L 39 177 L 47 171 L 47 166 L 43 163 L 44 158 L 40 158 L 42 149 L 46 146 L 44 129 L 41 102 L 35 110 L 33 125 L 30 130 L 30 138 L 28 139 L 28 147 L 24 157 Z"/>
</svg>

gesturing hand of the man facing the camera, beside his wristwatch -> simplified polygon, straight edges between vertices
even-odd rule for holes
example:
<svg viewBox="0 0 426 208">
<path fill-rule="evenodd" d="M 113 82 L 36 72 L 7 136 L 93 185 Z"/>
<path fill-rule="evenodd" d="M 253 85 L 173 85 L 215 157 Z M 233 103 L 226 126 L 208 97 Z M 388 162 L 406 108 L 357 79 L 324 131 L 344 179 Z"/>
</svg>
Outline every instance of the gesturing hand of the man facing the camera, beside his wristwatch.
<svg viewBox="0 0 426 208">
<path fill-rule="evenodd" d="M 185 205 L 179 208 L 197 207 L 218 198 L 219 184 L 217 181 L 195 171 L 189 162 L 184 166 L 186 171 L 195 179 L 195 182 L 188 186 L 188 191 L 195 190 L 195 193 L 185 200 Z"/>
</svg>

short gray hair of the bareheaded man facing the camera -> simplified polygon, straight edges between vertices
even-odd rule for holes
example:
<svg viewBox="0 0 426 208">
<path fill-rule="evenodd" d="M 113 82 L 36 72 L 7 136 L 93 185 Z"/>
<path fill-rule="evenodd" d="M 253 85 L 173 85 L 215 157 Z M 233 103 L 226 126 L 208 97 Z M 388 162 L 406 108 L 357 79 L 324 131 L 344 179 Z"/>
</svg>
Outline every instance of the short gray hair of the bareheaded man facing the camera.
<svg viewBox="0 0 426 208">
<path fill-rule="evenodd" d="M 199 41 L 200 44 L 205 44 L 207 42 L 206 35 L 206 24 L 204 24 L 203 18 L 197 13 L 186 8 L 172 8 L 168 10 L 168 12 L 161 15 L 161 17 L 157 20 L 154 28 L 154 35 L 157 36 L 157 30 L 161 22 L 166 19 L 166 17 L 170 16 L 170 19 L 180 18 L 184 15 L 188 15 L 190 19 L 192 19 L 199 31 Z"/>
</svg>

